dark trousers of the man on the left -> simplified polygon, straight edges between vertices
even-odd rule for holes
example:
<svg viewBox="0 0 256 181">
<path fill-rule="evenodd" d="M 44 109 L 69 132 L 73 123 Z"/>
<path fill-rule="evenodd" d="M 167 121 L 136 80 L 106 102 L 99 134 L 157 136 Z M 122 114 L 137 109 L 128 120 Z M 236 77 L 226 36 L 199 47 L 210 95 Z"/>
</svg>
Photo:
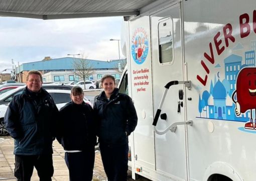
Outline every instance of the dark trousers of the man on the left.
<svg viewBox="0 0 256 181">
<path fill-rule="evenodd" d="M 15 155 L 14 175 L 18 181 L 30 181 L 34 166 L 40 181 L 50 181 L 53 176 L 52 154 L 47 155 Z"/>
</svg>

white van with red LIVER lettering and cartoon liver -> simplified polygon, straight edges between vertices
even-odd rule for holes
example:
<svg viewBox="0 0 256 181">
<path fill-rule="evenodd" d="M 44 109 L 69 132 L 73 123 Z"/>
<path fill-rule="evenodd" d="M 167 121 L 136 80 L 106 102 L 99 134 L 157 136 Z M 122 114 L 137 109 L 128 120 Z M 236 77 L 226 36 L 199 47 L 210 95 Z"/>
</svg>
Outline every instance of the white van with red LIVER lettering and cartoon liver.
<svg viewBox="0 0 256 181">
<path fill-rule="evenodd" d="M 130 166 L 152 180 L 256 179 L 256 3 L 157 0 L 126 22 L 138 125 Z"/>
</svg>

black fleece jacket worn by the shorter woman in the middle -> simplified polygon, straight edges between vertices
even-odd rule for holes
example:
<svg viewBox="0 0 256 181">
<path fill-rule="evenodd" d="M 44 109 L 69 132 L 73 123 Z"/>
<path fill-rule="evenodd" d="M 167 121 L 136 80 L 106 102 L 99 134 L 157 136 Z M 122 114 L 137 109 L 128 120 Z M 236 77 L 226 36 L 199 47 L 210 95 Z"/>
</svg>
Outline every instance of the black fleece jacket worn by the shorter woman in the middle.
<svg viewBox="0 0 256 181">
<path fill-rule="evenodd" d="M 57 140 L 65 150 L 84 150 L 95 146 L 95 116 L 92 107 L 73 101 L 60 109 Z"/>
</svg>

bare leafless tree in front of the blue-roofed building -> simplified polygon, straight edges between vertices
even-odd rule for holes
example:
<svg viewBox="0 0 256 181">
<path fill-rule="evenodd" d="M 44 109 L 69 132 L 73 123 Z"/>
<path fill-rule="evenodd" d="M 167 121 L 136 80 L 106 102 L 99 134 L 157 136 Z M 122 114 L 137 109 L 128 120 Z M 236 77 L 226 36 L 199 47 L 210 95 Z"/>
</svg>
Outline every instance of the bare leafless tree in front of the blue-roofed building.
<svg viewBox="0 0 256 181">
<path fill-rule="evenodd" d="M 94 72 L 90 60 L 86 59 L 84 54 L 81 54 L 79 58 L 73 59 L 73 68 L 74 73 L 83 79 L 85 89 L 85 80 L 88 79 L 89 75 Z"/>
</svg>

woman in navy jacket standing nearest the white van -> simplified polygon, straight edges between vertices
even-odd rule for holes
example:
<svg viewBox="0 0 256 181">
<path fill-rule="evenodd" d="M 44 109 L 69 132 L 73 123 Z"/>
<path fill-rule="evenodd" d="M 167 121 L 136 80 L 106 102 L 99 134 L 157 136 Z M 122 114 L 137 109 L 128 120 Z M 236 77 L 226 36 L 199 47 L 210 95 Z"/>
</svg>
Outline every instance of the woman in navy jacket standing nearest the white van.
<svg viewBox="0 0 256 181">
<path fill-rule="evenodd" d="M 104 91 L 95 97 L 97 135 L 101 158 L 109 181 L 126 181 L 128 136 L 137 125 L 137 113 L 131 97 L 119 93 L 112 75 L 101 79 Z"/>
</svg>

